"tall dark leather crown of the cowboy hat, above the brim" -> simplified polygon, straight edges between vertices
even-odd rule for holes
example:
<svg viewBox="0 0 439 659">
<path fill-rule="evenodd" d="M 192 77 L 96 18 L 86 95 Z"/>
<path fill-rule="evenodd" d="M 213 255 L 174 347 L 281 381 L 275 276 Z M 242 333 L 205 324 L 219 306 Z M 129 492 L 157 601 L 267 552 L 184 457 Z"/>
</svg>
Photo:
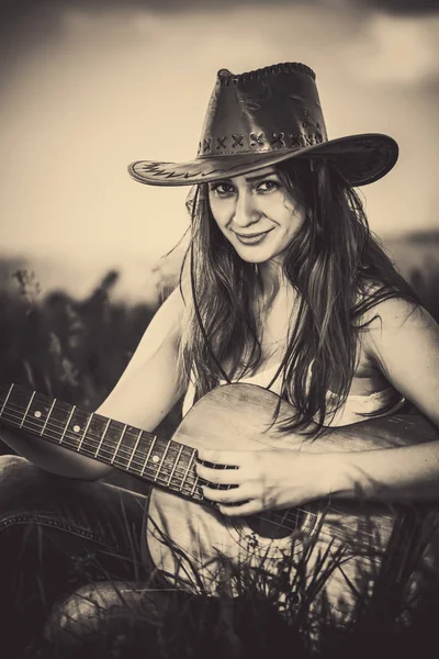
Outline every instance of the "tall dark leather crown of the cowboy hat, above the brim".
<svg viewBox="0 0 439 659">
<path fill-rule="evenodd" d="M 326 141 L 309 67 L 282 63 L 239 75 L 219 69 L 198 157 L 302 149 Z"/>
</svg>

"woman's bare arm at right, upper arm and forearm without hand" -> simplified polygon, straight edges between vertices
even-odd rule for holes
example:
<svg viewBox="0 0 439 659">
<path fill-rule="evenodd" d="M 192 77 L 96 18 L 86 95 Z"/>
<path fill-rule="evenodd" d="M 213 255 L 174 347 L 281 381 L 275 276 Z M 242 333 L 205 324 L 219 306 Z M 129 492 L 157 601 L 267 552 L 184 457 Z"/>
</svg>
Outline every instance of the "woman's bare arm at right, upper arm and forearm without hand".
<svg viewBox="0 0 439 659">
<path fill-rule="evenodd" d="M 439 437 L 438 324 L 426 310 L 403 300 L 387 300 L 373 311 L 380 317 L 367 333 L 372 360 L 438 427 Z M 365 498 L 397 501 L 439 498 L 439 440 L 334 454 L 327 460 L 330 490 L 339 496 L 361 493 Z"/>
</svg>

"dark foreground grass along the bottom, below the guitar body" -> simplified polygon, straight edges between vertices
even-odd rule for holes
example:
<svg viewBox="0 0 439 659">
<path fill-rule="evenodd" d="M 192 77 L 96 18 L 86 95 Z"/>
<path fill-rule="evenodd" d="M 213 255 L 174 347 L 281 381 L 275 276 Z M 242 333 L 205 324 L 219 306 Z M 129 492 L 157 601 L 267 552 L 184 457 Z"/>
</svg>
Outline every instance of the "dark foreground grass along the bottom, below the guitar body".
<svg viewBox="0 0 439 659">
<path fill-rule="evenodd" d="M 169 538 L 162 539 L 172 546 Z M 223 558 L 222 569 L 235 596 L 225 590 L 207 596 L 199 570 L 193 566 L 188 570 L 184 563 L 191 561 L 178 548 L 173 549 L 178 572 L 193 574 L 191 585 L 198 595 L 182 594 L 188 590 L 187 578 L 184 583 L 173 580 L 170 591 L 157 593 L 150 583 L 139 590 L 138 584 L 121 583 L 108 574 L 101 590 L 95 584 L 82 589 L 61 608 L 69 622 L 69 643 L 64 635 L 57 637 L 55 618 L 52 643 L 31 647 L 27 659 L 427 656 L 423 649 L 437 643 L 439 576 L 423 563 L 421 547 L 413 544 L 406 552 L 404 579 L 389 580 L 384 561 L 378 573 L 368 571 L 367 578 L 348 587 L 352 604 L 335 613 L 325 589 L 348 557 L 346 548 L 333 544 L 322 549 L 317 540 L 318 529 L 304 550 L 285 555 L 274 573 L 266 569 L 263 559 L 249 568 L 232 566 Z M 375 584 L 384 581 L 378 596 L 370 589 L 371 574 Z M 415 591 L 415 578 L 419 583 L 428 581 L 429 589 Z M 90 626 L 87 613 L 93 619 Z"/>
</svg>

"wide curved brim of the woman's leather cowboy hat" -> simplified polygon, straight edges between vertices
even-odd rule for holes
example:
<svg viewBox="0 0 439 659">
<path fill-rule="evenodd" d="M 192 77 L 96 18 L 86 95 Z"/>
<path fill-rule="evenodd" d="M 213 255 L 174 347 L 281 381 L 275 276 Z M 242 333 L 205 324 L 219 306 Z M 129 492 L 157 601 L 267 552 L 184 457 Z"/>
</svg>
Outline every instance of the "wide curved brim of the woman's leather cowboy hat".
<svg viewBox="0 0 439 659">
<path fill-rule="evenodd" d="M 192 186 L 241 176 L 304 156 L 330 159 L 350 186 L 365 186 L 379 180 L 394 167 L 398 158 L 398 145 L 389 135 L 364 133 L 299 149 L 203 156 L 188 163 L 137 160 L 128 166 L 128 172 L 136 181 L 149 186 Z"/>
</svg>

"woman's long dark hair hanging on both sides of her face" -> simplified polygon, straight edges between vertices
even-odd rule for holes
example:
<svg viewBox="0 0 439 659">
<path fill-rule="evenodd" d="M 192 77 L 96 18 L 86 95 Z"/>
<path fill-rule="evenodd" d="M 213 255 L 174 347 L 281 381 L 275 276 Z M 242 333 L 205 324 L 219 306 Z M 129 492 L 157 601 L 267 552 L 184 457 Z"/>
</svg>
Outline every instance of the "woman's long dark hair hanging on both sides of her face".
<svg viewBox="0 0 439 659">
<path fill-rule="evenodd" d="M 372 235 L 359 196 L 334 164 L 294 158 L 275 169 L 306 213 L 283 260 L 297 305 L 282 361 L 281 395 L 293 405 L 286 427 L 315 433 L 346 401 L 358 333 L 372 320 L 364 322 L 364 314 L 390 298 L 419 301 Z M 191 301 L 179 370 L 183 386 L 192 379 L 198 400 L 221 379 L 243 377 L 258 366 L 261 345 L 252 301 L 260 281 L 255 264 L 244 261 L 217 227 L 206 185 L 195 190 L 191 215 L 182 268 L 189 272 Z M 328 391 L 337 394 L 330 396 L 337 401 L 331 409 Z"/>
</svg>

